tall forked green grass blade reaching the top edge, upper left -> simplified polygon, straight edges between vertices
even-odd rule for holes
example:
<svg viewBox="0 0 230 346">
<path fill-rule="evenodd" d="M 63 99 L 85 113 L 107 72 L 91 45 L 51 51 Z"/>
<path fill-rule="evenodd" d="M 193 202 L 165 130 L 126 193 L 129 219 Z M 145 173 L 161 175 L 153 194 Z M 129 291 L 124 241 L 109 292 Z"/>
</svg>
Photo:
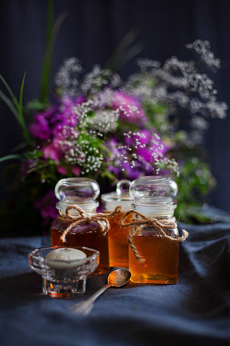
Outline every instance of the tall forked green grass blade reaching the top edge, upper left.
<svg viewBox="0 0 230 346">
<path fill-rule="evenodd" d="M 42 66 L 42 74 L 40 81 L 40 101 L 46 103 L 48 100 L 49 81 L 50 81 L 50 70 L 51 70 L 51 59 L 54 42 L 57 37 L 58 31 L 61 24 L 66 18 L 66 13 L 61 13 L 54 23 L 54 1 L 48 1 L 47 10 L 47 26 L 46 26 L 46 50 L 44 55 L 44 62 Z"/>
</svg>

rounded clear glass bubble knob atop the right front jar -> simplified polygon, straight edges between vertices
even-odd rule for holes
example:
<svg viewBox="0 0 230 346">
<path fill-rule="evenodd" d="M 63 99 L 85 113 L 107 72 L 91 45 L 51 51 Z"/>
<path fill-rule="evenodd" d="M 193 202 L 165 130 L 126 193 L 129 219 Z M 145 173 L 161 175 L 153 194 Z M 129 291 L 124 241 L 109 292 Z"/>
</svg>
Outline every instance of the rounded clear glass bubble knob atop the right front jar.
<svg viewBox="0 0 230 346">
<path fill-rule="evenodd" d="M 176 182 L 163 175 L 142 176 L 130 185 L 130 195 L 134 204 L 169 206 L 173 204 L 177 192 Z"/>
</svg>

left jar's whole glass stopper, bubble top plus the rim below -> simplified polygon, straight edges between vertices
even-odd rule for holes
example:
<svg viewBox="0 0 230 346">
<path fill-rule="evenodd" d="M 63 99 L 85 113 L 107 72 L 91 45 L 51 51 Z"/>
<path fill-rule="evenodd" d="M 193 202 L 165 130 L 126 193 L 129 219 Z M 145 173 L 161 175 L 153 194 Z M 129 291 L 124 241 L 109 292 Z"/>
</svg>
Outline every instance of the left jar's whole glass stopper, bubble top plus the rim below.
<svg viewBox="0 0 230 346">
<path fill-rule="evenodd" d="M 100 188 L 94 179 L 73 177 L 61 179 L 55 186 L 55 195 L 59 202 L 57 209 L 65 210 L 71 204 L 79 204 L 83 209 L 94 209 L 99 203 Z"/>
</svg>

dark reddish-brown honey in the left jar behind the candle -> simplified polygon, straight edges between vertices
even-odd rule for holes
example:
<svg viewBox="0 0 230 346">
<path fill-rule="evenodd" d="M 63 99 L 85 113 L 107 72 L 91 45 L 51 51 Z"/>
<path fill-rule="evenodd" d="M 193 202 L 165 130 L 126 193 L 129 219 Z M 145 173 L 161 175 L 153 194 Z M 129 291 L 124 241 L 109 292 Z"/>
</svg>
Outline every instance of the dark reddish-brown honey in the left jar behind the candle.
<svg viewBox="0 0 230 346">
<path fill-rule="evenodd" d="M 100 252 L 99 265 L 93 274 L 104 273 L 109 270 L 108 257 L 108 237 L 104 236 L 99 231 L 79 232 L 74 233 L 69 231 L 66 235 L 66 242 L 62 243 L 60 236 L 62 232 L 58 229 L 51 228 L 52 246 L 67 245 L 67 246 L 85 246 L 90 249 L 95 249 Z"/>
</svg>

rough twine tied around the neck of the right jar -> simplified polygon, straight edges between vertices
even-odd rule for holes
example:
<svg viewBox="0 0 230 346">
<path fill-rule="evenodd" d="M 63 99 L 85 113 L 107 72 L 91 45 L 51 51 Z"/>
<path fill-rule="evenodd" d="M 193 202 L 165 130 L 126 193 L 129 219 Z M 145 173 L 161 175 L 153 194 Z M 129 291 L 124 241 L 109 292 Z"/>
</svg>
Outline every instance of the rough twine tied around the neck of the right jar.
<svg viewBox="0 0 230 346">
<path fill-rule="evenodd" d="M 124 222 L 126 217 L 131 213 L 140 216 L 140 219 L 136 219 L 132 222 L 129 222 L 128 224 L 125 224 Z M 129 210 L 126 213 L 124 213 L 120 220 L 120 226 L 130 227 L 127 237 L 128 245 L 131 247 L 134 256 L 136 257 L 136 260 L 141 263 L 145 262 L 145 258 L 140 254 L 140 252 L 137 250 L 136 246 L 133 243 L 133 236 L 140 226 L 155 228 L 164 239 L 167 239 L 170 242 L 174 243 L 181 243 L 189 236 L 189 232 L 187 232 L 185 229 L 182 230 L 183 235 L 181 237 L 171 237 L 163 231 L 163 229 L 177 228 L 176 219 L 174 217 L 172 217 L 171 219 L 151 218 L 143 215 L 142 213 L 136 210 Z"/>
</svg>

